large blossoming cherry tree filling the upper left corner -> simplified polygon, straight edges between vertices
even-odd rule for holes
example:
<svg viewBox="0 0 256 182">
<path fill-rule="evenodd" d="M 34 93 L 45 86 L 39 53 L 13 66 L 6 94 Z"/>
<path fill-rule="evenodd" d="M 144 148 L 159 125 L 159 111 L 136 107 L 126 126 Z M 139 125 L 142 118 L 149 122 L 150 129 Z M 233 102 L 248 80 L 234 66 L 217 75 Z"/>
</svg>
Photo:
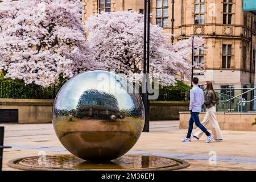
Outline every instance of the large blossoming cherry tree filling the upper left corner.
<svg viewBox="0 0 256 182">
<path fill-rule="evenodd" d="M 0 70 L 49 86 L 95 66 L 80 20 L 80 1 L 3 0 Z M 98 65 L 98 64 L 97 64 Z"/>
</svg>

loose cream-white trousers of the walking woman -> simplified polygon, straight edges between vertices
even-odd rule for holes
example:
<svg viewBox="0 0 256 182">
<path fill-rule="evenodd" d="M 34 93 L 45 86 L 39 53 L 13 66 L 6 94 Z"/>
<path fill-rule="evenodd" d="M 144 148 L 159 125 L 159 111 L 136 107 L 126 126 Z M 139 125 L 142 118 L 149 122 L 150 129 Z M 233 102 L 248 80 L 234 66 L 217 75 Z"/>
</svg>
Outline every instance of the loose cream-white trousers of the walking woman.
<svg viewBox="0 0 256 182">
<path fill-rule="evenodd" d="M 207 113 L 205 114 L 203 122 L 201 124 L 204 127 L 207 127 L 210 125 L 210 128 L 212 129 L 212 134 L 214 136 L 214 139 L 223 139 L 220 125 L 218 125 L 218 121 L 216 118 L 216 107 L 210 107 L 207 109 Z M 197 138 L 200 138 L 204 132 L 197 127 L 197 129 L 194 131 L 193 135 L 195 135 Z"/>
</svg>

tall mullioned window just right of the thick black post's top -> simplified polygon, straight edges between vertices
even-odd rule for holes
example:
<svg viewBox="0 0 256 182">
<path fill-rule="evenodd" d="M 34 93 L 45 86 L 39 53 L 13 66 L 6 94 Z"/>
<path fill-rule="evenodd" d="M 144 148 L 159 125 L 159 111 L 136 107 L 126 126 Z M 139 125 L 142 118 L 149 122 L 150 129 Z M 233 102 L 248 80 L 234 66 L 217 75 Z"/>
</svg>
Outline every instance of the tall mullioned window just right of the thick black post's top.
<svg viewBox="0 0 256 182">
<path fill-rule="evenodd" d="M 156 0 L 156 24 L 168 27 L 168 0 Z"/>
</svg>

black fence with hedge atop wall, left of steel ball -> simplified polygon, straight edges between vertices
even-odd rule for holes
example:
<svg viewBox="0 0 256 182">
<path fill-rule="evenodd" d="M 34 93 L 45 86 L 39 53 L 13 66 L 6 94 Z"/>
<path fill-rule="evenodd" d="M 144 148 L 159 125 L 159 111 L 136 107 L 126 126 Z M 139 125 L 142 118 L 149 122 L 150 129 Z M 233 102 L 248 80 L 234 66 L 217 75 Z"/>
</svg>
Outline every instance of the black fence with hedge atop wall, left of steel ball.
<svg viewBox="0 0 256 182">
<path fill-rule="evenodd" d="M 60 85 L 44 88 L 36 84 L 25 85 L 23 82 L 0 81 L 0 98 L 55 99 L 60 88 Z"/>
</svg>

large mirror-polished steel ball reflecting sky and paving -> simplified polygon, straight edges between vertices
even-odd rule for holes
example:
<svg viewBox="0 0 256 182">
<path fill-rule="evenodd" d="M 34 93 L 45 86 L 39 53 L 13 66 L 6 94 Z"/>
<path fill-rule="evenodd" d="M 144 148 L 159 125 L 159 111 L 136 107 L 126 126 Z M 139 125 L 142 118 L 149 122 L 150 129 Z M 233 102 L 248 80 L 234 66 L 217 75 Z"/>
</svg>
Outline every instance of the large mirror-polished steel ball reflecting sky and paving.
<svg viewBox="0 0 256 182">
<path fill-rule="evenodd" d="M 73 155 L 107 162 L 134 146 L 144 126 L 141 96 L 125 77 L 88 71 L 71 78 L 53 106 L 55 132 Z"/>
</svg>

